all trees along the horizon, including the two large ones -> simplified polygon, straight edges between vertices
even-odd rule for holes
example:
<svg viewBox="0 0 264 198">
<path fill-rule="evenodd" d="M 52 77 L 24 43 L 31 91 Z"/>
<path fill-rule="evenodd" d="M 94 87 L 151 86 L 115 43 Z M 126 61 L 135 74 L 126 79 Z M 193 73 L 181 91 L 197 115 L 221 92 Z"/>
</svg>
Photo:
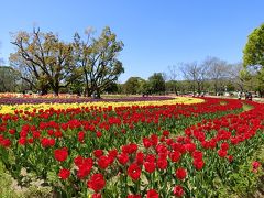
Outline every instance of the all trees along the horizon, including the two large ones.
<svg viewBox="0 0 264 198">
<path fill-rule="evenodd" d="M 69 92 L 99 98 L 101 94 L 222 95 L 248 90 L 264 96 L 264 24 L 249 35 L 241 63 L 208 56 L 201 63 L 168 66 L 147 79 L 130 77 L 124 84 L 118 82 L 124 73 L 119 59 L 122 41 L 108 26 L 98 37 L 94 35 L 88 29 L 84 38 L 75 33 L 72 42 L 64 42 L 57 34 L 40 29 L 13 34 L 15 53 L 10 55 L 10 66 L 0 66 L 0 91 Z"/>
</svg>

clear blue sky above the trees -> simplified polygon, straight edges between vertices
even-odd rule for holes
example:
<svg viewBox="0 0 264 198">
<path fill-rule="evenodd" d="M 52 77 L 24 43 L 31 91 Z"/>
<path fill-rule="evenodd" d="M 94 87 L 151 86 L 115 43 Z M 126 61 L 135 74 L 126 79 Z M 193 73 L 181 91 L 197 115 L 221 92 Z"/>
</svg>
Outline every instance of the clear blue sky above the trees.
<svg viewBox="0 0 264 198">
<path fill-rule="evenodd" d="M 248 35 L 264 22 L 263 8 L 264 0 L 0 0 L 0 57 L 8 65 L 14 52 L 10 32 L 34 24 L 64 41 L 108 25 L 124 43 L 121 82 L 207 56 L 237 63 Z"/>
</svg>

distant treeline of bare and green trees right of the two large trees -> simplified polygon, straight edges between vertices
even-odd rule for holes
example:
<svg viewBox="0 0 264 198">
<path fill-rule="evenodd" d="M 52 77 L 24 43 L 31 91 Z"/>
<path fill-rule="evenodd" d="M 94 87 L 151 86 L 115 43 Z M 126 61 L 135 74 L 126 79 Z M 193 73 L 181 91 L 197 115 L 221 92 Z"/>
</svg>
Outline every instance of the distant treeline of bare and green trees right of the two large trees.
<svg viewBox="0 0 264 198">
<path fill-rule="evenodd" d="M 217 57 L 168 66 L 148 79 L 131 77 L 121 86 L 123 94 L 210 94 L 257 91 L 254 78 L 246 76 L 242 63 L 229 64 Z"/>
</svg>

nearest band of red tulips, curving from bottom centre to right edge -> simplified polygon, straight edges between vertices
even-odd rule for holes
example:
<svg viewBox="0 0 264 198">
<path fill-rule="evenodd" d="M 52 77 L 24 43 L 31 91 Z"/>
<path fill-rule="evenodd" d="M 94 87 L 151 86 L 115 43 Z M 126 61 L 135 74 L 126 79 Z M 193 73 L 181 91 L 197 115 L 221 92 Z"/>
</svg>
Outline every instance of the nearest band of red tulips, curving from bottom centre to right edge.
<svg viewBox="0 0 264 198">
<path fill-rule="evenodd" d="M 67 148 L 57 150 L 58 176 L 67 189 L 73 180 L 86 183 L 92 197 L 217 196 L 215 178 L 229 183 L 229 174 L 263 144 L 264 107 L 251 105 L 257 109 L 204 120 L 186 129 L 184 136 L 170 138 L 169 131 L 163 131 L 162 136 L 143 138 L 141 144 L 123 145 L 120 152 L 95 150 L 90 157 L 74 158 L 76 169 L 62 163 L 67 161 Z"/>
</svg>

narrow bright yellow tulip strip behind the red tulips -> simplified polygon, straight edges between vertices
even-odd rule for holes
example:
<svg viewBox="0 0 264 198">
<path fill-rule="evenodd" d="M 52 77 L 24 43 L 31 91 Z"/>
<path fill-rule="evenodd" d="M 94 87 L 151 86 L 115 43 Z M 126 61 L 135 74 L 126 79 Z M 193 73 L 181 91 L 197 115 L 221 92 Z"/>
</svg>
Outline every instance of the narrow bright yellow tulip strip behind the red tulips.
<svg viewBox="0 0 264 198">
<path fill-rule="evenodd" d="M 133 101 L 133 102 L 84 102 L 84 103 L 38 103 L 38 105 L 32 105 L 32 103 L 23 103 L 23 105 L 3 105 L 0 108 L 0 113 L 14 113 L 14 110 L 23 110 L 32 112 L 33 109 L 40 110 L 46 110 L 51 107 L 54 109 L 68 109 L 68 108 L 80 108 L 80 107 L 101 107 L 107 108 L 109 106 L 112 106 L 112 108 L 116 107 L 128 107 L 128 106 L 163 106 L 163 105 L 175 105 L 175 103 L 200 103 L 204 102 L 202 99 L 199 98 L 188 98 L 188 97 L 177 97 L 172 100 L 156 100 L 156 101 Z"/>
</svg>

